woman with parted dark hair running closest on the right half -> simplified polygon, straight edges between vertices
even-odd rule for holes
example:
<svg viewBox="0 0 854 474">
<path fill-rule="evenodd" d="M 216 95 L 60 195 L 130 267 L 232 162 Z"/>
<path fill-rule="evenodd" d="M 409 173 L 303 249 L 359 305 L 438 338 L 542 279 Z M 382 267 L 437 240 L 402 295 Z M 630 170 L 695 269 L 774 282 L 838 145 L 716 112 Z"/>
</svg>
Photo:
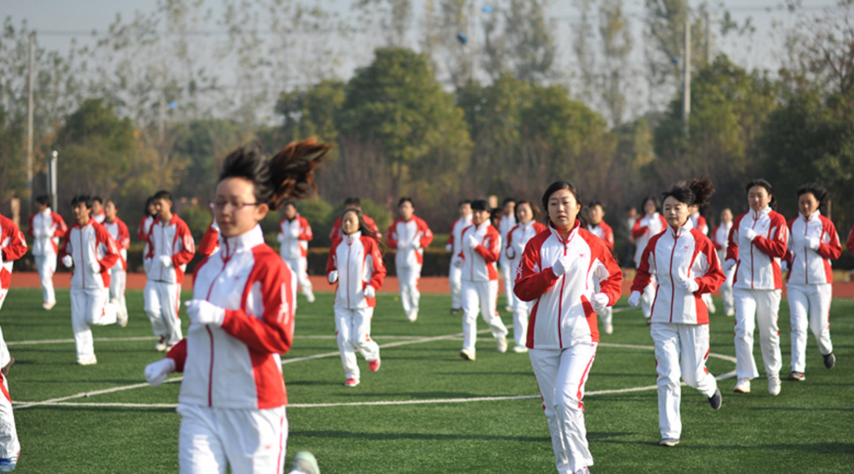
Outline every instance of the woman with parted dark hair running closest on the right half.
<svg viewBox="0 0 854 474">
<path fill-rule="evenodd" d="M 578 219 L 582 200 L 575 185 L 551 184 L 542 207 L 548 231 L 525 245 L 513 291 L 520 300 L 535 303 L 528 320 L 528 355 L 558 472 L 589 473 L 593 455 L 582 399 L 599 346 L 596 313 L 619 299 L 623 272 L 605 242 Z M 594 280 L 601 284 L 598 293 Z"/>
</svg>

